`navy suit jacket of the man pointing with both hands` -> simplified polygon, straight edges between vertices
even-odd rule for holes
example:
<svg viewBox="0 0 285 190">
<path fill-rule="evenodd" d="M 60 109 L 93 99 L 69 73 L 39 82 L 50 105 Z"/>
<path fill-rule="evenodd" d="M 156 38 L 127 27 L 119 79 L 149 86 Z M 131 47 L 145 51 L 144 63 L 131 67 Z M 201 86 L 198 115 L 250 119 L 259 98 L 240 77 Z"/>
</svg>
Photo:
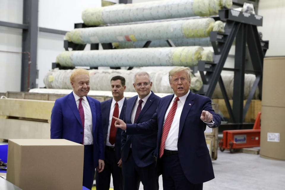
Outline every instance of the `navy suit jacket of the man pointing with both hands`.
<svg viewBox="0 0 285 190">
<path fill-rule="evenodd" d="M 174 94 L 163 97 L 152 119 L 142 124 L 127 124 L 127 133 L 135 134 L 149 130 L 157 130 L 156 157 L 159 167 L 159 148 L 164 116 Z M 206 124 L 200 119 L 202 110 L 213 114 L 214 127 L 221 124 L 221 117 L 214 113 L 208 97 L 192 92 L 186 98 L 180 117 L 178 131 L 178 156 L 186 178 L 194 184 L 203 183 L 214 178 L 212 161 L 206 145 L 204 131 Z"/>
</svg>

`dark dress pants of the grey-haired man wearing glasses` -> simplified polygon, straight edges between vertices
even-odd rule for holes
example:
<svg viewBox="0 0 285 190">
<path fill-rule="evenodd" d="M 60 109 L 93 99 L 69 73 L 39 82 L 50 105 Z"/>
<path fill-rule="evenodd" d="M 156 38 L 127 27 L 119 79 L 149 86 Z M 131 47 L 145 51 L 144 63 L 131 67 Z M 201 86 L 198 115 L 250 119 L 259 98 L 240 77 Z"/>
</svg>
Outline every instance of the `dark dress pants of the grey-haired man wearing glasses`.
<svg viewBox="0 0 285 190">
<path fill-rule="evenodd" d="M 134 162 L 131 150 L 128 159 L 123 162 L 124 190 L 139 189 L 140 181 L 143 183 L 144 190 L 158 190 L 159 183 L 155 162 L 146 167 L 138 167 Z"/>
</svg>

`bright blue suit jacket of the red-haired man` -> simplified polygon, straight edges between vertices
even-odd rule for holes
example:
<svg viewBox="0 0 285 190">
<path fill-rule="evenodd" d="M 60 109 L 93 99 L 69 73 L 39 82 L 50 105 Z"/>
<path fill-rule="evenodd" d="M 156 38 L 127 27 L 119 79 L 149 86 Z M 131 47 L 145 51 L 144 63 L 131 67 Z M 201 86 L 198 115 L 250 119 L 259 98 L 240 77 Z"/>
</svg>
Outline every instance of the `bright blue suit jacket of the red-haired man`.
<svg viewBox="0 0 285 190">
<path fill-rule="evenodd" d="M 86 96 L 92 114 L 94 167 L 104 160 L 104 140 L 100 102 Z M 82 144 L 83 127 L 73 93 L 56 99 L 51 111 L 50 138 L 66 139 Z"/>
</svg>

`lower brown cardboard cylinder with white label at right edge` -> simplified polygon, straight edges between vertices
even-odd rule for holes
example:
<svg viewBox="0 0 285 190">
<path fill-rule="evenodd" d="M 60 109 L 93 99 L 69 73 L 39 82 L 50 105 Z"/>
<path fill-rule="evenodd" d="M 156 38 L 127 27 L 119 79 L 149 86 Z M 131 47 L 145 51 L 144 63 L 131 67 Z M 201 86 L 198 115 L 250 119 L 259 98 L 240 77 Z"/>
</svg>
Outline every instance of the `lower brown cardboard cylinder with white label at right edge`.
<svg viewBox="0 0 285 190">
<path fill-rule="evenodd" d="M 285 160 L 285 107 L 262 106 L 260 156 L 270 159 Z M 267 133 L 279 133 L 279 142 L 267 140 Z"/>
</svg>

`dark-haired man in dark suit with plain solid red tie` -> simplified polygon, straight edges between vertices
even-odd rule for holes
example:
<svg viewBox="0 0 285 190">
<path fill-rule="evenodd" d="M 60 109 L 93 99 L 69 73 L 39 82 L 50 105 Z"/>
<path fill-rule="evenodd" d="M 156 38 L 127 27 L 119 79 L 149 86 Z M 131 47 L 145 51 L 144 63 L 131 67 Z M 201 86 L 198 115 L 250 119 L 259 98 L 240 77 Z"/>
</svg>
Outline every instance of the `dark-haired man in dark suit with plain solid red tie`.
<svg viewBox="0 0 285 190">
<path fill-rule="evenodd" d="M 122 129 L 115 128 L 117 115 L 123 119 L 126 105 L 124 91 L 126 80 L 124 77 L 111 78 L 111 90 L 113 98 L 101 102 L 103 134 L 105 142 L 105 167 L 101 173 L 96 171 L 96 189 L 109 190 L 111 174 L 114 190 L 123 190 L 122 159 L 121 159 L 121 133 Z"/>
</svg>

